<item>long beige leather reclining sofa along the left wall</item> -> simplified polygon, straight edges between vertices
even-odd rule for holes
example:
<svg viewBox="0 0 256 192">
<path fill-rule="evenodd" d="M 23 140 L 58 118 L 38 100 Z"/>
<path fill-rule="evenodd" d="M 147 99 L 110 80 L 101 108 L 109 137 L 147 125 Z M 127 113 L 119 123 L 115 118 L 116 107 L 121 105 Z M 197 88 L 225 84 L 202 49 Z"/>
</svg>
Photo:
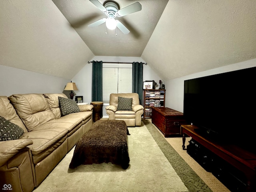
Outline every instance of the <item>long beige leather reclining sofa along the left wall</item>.
<svg viewBox="0 0 256 192">
<path fill-rule="evenodd" d="M 61 115 L 58 96 L 0 96 L 0 116 L 24 130 L 17 140 L 0 141 L 0 189 L 31 192 L 92 126 L 92 105 Z"/>
</svg>

